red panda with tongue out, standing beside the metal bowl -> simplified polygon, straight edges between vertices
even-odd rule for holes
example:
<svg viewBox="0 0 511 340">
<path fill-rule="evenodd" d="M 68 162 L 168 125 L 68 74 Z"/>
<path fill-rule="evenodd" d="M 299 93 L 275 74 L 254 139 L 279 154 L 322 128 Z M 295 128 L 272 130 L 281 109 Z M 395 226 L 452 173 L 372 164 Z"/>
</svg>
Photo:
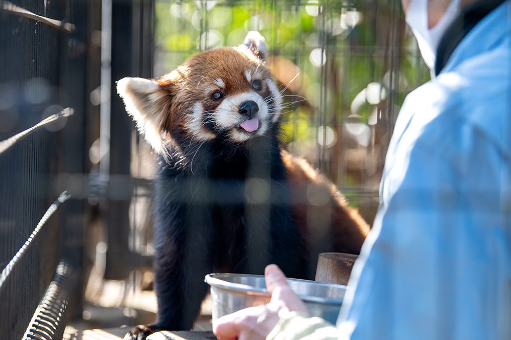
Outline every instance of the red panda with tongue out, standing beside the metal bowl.
<svg viewBox="0 0 511 340">
<path fill-rule="evenodd" d="M 276 263 L 313 278 L 320 252 L 359 254 L 368 233 L 335 186 L 282 145 L 283 99 L 249 32 L 239 47 L 192 56 L 159 79 L 123 78 L 118 93 L 158 156 L 154 184 L 157 321 L 126 339 L 190 329 L 217 271 Z"/>
</svg>

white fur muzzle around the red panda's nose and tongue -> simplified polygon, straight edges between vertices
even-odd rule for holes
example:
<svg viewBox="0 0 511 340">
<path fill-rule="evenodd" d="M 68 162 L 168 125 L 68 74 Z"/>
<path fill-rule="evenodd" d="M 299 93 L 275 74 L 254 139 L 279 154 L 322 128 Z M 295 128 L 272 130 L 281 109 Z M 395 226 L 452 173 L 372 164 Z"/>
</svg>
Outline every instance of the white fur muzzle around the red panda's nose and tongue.
<svg viewBox="0 0 511 340">
<path fill-rule="evenodd" d="M 246 120 L 246 118 L 239 114 L 239 107 L 241 103 L 248 100 L 254 101 L 259 106 L 256 118 L 259 119 L 260 126 L 255 133 L 262 135 L 268 129 L 270 112 L 268 111 L 268 104 L 263 100 L 263 97 L 253 91 L 229 96 L 218 105 L 213 116 L 216 125 L 229 130 L 230 137 L 236 142 L 245 142 L 251 138 L 251 133 L 239 129 L 240 124 Z"/>
</svg>

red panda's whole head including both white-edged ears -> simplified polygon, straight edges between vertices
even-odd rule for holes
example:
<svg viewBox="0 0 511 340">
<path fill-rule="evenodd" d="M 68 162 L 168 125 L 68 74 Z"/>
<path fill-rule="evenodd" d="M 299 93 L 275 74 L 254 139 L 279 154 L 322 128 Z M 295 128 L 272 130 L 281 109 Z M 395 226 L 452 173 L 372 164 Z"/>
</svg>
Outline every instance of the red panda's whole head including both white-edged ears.
<svg viewBox="0 0 511 340">
<path fill-rule="evenodd" d="M 162 131 L 243 143 L 267 133 L 281 114 L 282 97 L 265 52 L 264 39 L 250 32 L 240 47 L 201 52 L 159 80 L 121 79 L 118 92 L 158 152 Z"/>
</svg>

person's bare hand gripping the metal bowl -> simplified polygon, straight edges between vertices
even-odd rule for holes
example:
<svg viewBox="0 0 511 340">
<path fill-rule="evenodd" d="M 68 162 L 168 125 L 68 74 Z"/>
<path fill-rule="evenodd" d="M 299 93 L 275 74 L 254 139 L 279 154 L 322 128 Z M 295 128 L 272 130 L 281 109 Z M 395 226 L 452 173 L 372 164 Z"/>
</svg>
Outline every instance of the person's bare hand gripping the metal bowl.
<svg viewBox="0 0 511 340">
<path fill-rule="evenodd" d="M 266 287 L 271 294 L 268 304 L 249 307 L 224 315 L 213 324 L 219 340 L 264 340 L 280 318 L 290 312 L 309 314 L 307 307 L 289 288 L 282 270 L 275 264 L 265 269 Z"/>
</svg>

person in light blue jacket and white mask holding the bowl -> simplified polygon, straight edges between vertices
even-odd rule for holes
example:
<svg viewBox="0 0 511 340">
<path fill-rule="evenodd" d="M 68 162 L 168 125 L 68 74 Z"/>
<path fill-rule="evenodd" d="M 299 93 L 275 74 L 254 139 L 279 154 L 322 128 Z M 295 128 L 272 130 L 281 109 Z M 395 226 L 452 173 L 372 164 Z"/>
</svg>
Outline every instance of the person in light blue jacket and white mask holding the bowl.
<svg viewBox="0 0 511 340">
<path fill-rule="evenodd" d="M 220 340 L 511 339 L 511 6 L 402 0 L 433 79 L 405 100 L 336 327 L 278 267 Z"/>
</svg>

